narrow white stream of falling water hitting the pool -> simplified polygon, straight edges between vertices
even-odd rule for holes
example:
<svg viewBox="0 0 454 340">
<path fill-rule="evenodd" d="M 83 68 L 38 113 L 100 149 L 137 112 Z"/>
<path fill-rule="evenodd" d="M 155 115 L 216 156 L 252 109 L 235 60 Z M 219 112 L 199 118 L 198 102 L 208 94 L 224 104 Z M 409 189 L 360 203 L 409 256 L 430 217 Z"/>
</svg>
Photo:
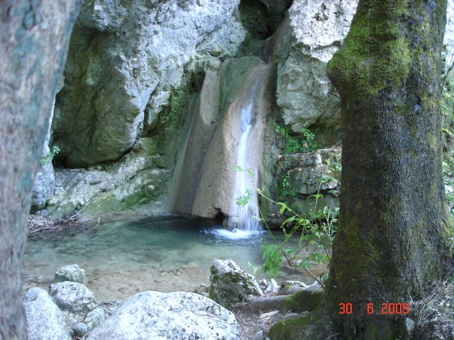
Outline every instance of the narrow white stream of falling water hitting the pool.
<svg viewBox="0 0 454 340">
<path fill-rule="evenodd" d="M 257 152 L 258 148 L 253 145 L 260 144 L 261 133 L 254 135 L 251 132 L 254 124 L 254 101 L 258 83 L 263 77 L 264 69 L 258 72 L 257 80 L 250 89 L 250 101 L 247 106 L 241 108 L 240 115 L 240 139 L 238 140 L 238 153 L 236 165 L 238 171 L 233 186 L 233 198 L 231 203 L 231 215 L 227 220 L 227 227 L 233 231 L 260 232 L 262 225 L 255 217 L 260 217 L 257 201 L 258 165 L 251 164 L 250 152 Z M 260 131 L 260 129 L 259 129 Z M 236 199 L 250 196 L 246 205 L 238 205 Z"/>
</svg>

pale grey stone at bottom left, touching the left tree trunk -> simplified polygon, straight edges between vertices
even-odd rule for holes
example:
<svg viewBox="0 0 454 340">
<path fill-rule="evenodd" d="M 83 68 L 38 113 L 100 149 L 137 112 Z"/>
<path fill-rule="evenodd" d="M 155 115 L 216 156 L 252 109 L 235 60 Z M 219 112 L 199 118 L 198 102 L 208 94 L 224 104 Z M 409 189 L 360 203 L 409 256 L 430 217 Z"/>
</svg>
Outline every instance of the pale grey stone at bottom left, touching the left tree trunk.
<svg viewBox="0 0 454 340">
<path fill-rule="evenodd" d="M 71 340 L 62 311 L 49 294 L 40 288 L 30 288 L 23 295 L 29 340 Z"/>
</svg>

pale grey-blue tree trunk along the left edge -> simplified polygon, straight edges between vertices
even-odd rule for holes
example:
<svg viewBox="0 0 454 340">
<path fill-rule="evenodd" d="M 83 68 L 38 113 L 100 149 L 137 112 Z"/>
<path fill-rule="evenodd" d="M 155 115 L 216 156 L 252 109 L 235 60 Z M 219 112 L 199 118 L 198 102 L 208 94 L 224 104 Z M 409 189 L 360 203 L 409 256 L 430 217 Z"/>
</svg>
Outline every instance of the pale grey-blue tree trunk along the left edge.
<svg viewBox="0 0 454 340">
<path fill-rule="evenodd" d="M 31 189 L 81 0 L 0 1 L 0 339 L 26 339 Z"/>
</svg>

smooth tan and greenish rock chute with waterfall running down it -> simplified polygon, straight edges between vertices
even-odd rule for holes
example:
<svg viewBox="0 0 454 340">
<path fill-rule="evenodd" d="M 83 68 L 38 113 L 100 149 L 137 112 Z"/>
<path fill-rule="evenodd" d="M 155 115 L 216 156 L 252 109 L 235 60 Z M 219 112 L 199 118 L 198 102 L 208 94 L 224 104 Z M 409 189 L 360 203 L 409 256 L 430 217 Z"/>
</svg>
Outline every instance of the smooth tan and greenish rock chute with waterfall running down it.
<svg viewBox="0 0 454 340">
<path fill-rule="evenodd" d="M 223 229 L 260 231 L 257 188 L 270 111 L 272 70 L 258 57 L 232 58 L 207 71 L 172 176 L 169 210 L 216 219 Z M 243 171 L 236 171 L 240 166 Z M 250 175 L 250 174 L 252 175 Z M 236 199 L 250 191 L 248 205 Z"/>
</svg>

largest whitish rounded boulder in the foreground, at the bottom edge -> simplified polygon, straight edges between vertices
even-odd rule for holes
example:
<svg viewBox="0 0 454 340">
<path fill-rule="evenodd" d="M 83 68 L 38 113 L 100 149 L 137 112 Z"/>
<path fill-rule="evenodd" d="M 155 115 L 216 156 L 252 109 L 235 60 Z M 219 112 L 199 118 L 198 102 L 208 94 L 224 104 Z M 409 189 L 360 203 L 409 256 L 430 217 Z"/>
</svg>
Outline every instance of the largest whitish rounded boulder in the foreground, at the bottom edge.
<svg viewBox="0 0 454 340">
<path fill-rule="evenodd" d="M 236 319 L 213 300 L 195 293 L 147 291 L 118 305 L 87 340 L 238 340 Z"/>
</svg>

